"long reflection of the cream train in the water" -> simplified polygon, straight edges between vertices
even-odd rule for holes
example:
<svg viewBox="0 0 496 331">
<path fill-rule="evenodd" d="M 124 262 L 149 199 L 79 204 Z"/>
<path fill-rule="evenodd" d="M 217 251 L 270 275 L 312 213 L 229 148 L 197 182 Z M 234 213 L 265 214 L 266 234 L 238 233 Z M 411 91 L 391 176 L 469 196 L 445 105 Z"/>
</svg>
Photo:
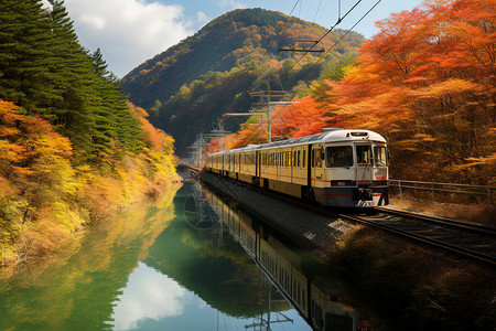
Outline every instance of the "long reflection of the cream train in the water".
<svg viewBox="0 0 496 331">
<path fill-rule="evenodd" d="M 356 311 L 342 302 L 338 293 L 323 290 L 325 286 L 317 285 L 319 277 L 305 270 L 304 261 L 296 253 L 261 225 L 254 224 L 252 218 L 230 209 L 219 196 L 209 193 L 207 201 L 233 236 L 314 330 L 368 330 L 365 321 L 357 325 Z"/>
</svg>

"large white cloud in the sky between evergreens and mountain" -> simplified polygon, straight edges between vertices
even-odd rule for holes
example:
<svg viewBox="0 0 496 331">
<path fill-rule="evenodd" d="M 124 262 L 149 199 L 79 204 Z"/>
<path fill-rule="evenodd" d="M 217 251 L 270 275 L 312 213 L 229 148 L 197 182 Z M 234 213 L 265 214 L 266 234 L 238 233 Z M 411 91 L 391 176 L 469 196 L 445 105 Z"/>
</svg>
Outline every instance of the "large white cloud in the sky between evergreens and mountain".
<svg viewBox="0 0 496 331">
<path fill-rule="evenodd" d="M 118 76 L 194 32 L 181 6 L 143 0 L 66 0 L 65 6 L 83 46 L 100 47 Z"/>
</svg>

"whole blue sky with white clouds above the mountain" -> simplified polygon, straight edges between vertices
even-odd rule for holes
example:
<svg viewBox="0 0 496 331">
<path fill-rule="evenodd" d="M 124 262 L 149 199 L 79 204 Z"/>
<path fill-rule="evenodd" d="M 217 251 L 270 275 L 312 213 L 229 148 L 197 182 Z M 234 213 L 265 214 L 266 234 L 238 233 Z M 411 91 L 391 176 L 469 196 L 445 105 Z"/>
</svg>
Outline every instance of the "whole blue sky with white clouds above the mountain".
<svg viewBox="0 0 496 331">
<path fill-rule="evenodd" d="M 44 0 L 46 2 L 46 0 Z M 345 14 L 358 2 L 358 4 Z M 194 34 L 213 19 L 241 8 L 292 14 L 325 28 L 351 29 L 378 0 L 65 0 L 82 45 L 100 49 L 118 77 Z M 355 31 L 371 38 L 375 22 L 422 0 L 381 0 Z M 339 6 L 341 3 L 341 6 Z M 341 14 L 339 14 L 341 13 Z"/>
</svg>

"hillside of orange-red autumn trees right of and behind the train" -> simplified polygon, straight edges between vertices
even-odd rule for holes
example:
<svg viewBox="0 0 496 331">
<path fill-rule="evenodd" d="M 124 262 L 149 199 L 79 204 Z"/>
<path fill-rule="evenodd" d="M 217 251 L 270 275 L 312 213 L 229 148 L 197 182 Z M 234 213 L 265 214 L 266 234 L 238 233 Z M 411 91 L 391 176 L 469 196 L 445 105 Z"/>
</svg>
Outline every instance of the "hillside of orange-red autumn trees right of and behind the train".
<svg viewBox="0 0 496 331">
<path fill-rule="evenodd" d="M 371 129 L 396 179 L 496 185 L 496 1 L 432 0 L 378 24 L 343 79 L 316 79 L 273 114 L 272 135 Z M 226 143 L 265 142 L 266 130 L 250 119 Z"/>
</svg>

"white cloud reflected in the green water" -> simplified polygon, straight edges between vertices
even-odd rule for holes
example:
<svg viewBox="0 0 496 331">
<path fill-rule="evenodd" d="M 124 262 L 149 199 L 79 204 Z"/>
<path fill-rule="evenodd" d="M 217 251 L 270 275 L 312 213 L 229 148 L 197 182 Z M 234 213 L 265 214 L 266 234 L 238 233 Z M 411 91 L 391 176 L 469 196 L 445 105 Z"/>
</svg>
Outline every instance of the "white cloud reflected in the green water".
<svg viewBox="0 0 496 331">
<path fill-rule="evenodd" d="M 114 308 L 114 330 L 136 329 L 140 321 L 184 313 L 194 295 L 174 280 L 139 263 Z"/>
</svg>

